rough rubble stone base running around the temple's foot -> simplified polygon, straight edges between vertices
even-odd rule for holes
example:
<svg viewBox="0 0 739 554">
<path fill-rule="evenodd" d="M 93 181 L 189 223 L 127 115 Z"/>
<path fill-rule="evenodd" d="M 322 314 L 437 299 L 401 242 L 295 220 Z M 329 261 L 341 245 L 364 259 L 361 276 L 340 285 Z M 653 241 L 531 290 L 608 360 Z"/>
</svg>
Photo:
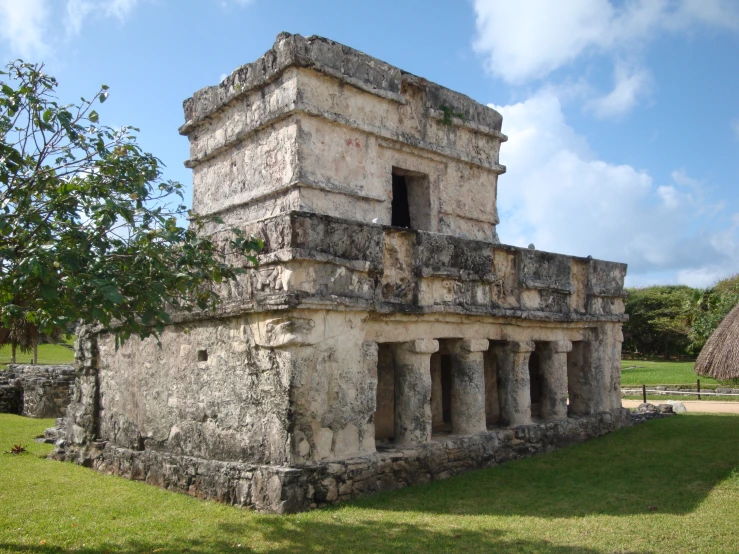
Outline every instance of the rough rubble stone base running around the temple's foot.
<svg viewBox="0 0 739 554">
<path fill-rule="evenodd" d="M 86 448 L 60 446 L 52 457 L 198 498 L 263 512 L 289 513 L 493 467 L 584 442 L 631 424 L 629 410 L 620 409 L 474 436 L 435 438 L 413 448 L 393 448 L 359 458 L 296 467 L 134 451 L 104 442 Z"/>
</svg>

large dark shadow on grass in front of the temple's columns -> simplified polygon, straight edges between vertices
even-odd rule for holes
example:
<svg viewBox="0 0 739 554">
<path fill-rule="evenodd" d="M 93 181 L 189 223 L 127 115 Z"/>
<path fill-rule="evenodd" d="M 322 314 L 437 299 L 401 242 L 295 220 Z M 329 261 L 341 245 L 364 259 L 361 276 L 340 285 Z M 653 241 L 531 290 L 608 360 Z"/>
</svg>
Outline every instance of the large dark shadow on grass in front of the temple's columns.
<svg viewBox="0 0 739 554">
<path fill-rule="evenodd" d="M 739 417 L 679 415 L 496 468 L 355 500 L 435 514 L 686 514 L 739 466 Z"/>
</svg>

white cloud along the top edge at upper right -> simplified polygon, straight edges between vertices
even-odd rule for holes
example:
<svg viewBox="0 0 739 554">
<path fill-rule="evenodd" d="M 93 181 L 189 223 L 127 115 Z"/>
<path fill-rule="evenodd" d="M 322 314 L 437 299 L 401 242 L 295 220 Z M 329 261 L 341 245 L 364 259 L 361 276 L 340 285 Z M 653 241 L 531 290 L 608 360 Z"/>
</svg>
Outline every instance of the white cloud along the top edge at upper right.
<svg viewBox="0 0 739 554">
<path fill-rule="evenodd" d="M 592 53 L 638 49 L 661 31 L 739 29 L 730 0 L 475 0 L 475 48 L 495 75 L 514 84 L 546 77 Z"/>
</svg>

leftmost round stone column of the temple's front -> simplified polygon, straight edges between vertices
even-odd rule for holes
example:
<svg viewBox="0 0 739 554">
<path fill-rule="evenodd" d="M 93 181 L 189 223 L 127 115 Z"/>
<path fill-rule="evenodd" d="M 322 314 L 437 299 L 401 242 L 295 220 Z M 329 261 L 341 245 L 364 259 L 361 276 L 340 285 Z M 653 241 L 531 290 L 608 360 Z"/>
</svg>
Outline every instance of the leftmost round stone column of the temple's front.
<svg viewBox="0 0 739 554">
<path fill-rule="evenodd" d="M 412 340 L 393 345 L 395 359 L 395 444 L 431 440 L 431 354 L 439 341 Z"/>
</svg>

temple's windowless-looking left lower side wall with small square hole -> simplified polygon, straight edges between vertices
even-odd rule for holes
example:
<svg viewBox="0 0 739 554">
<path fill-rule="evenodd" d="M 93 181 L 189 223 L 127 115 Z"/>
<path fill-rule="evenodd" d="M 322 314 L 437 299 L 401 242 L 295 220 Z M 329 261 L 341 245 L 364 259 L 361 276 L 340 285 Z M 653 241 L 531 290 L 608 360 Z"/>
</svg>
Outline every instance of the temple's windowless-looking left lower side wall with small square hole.
<svg viewBox="0 0 739 554">
<path fill-rule="evenodd" d="M 155 340 L 99 352 L 96 438 L 135 450 L 213 460 L 290 463 L 293 360 L 263 348 L 244 319 L 173 325 Z"/>
</svg>

